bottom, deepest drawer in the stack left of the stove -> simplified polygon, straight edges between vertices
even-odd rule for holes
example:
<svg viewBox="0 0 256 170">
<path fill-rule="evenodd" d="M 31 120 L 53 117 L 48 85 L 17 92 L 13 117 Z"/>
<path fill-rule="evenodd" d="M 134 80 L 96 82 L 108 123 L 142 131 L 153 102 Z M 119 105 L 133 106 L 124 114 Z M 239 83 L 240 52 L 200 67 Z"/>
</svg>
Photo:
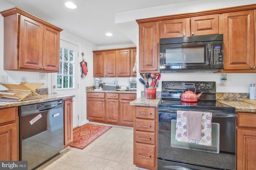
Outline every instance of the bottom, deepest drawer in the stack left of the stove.
<svg viewBox="0 0 256 170">
<path fill-rule="evenodd" d="M 135 149 L 134 149 L 135 164 L 154 167 L 155 157 L 156 157 L 155 151 L 156 151 L 155 145 L 135 143 Z"/>
</svg>

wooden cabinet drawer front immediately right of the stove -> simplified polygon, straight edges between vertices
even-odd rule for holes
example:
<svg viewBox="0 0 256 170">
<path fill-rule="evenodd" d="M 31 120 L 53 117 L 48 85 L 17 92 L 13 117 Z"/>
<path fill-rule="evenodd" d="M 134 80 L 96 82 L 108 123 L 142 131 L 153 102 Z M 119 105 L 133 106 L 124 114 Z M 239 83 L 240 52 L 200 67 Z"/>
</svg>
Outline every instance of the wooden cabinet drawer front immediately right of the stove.
<svg viewBox="0 0 256 170">
<path fill-rule="evenodd" d="M 255 113 L 238 113 L 238 126 L 254 127 L 256 128 L 256 114 Z"/>
</svg>

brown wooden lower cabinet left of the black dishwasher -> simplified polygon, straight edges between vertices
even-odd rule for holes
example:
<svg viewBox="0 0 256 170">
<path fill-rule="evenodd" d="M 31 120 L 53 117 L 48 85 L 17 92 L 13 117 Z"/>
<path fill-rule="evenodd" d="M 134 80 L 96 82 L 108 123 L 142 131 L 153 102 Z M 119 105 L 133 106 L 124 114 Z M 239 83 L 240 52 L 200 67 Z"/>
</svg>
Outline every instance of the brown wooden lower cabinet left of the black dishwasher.
<svg viewBox="0 0 256 170">
<path fill-rule="evenodd" d="M 0 160 L 18 160 L 18 107 L 0 109 Z"/>
</svg>

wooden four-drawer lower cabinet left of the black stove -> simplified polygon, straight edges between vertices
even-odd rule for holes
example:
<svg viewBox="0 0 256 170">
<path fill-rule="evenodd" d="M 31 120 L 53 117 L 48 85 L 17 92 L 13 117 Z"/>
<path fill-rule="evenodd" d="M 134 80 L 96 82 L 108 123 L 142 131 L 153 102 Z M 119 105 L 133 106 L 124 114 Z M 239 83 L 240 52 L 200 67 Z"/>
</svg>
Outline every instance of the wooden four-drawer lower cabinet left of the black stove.
<svg viewBox="0 0 256 170">
<path fill-rule="evenodd" d="M 135 106 L 134 118 L 134 160 L 141 168 L 157 168 L 157 107 Z"/>
</svg>

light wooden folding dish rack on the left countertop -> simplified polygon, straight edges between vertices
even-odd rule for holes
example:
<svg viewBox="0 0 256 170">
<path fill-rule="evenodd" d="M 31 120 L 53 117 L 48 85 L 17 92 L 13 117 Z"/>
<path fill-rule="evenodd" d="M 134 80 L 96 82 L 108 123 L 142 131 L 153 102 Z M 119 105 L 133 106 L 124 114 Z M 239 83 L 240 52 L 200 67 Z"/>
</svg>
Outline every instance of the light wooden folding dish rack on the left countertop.
<svg viewBox="0 0 256 170">
<path fill-rule="evenodd" d="M 24 100 L 32 100 L 38 98 L 44 98 L 38 94 L 35 90 L 44 83 L 0 83 L 2 86 L 8 88 L 6 92 L 0 92 L 0 99 L 6 99 L 5 101 L 20 102 Z M 32 95 L 34 94 L 34 95 Z"/>
</svg>

